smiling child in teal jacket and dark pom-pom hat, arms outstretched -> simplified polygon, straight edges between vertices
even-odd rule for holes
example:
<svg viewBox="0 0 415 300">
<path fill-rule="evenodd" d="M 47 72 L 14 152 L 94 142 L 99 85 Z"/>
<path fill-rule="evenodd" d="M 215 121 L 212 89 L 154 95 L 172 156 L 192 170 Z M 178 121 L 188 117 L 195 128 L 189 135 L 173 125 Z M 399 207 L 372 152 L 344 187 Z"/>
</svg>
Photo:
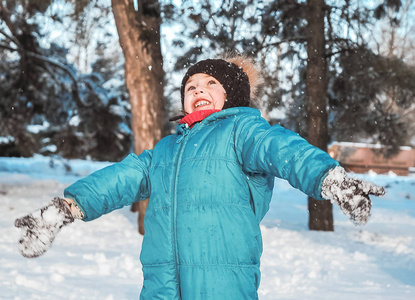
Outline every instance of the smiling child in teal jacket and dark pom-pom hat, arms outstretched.
<svg viewBox="0 0 415 300">
<path fill-rule="evenodd" d="M 91 221 L 150 198 L 145 214 L 140 299 L 257 299 L 262 240 L 274 177 L 330 199 L 356 224 L 369 194 L 384 189 L 349 178 L 324 151 L 250 108 L 257 72 L 247 59 L 208 59 L 181 84 L 186 116 L 153 150 L 75 182 L 65 198 L 16 220 L 19 250 L 37 257 L 62 226 Z"/>
</svg>

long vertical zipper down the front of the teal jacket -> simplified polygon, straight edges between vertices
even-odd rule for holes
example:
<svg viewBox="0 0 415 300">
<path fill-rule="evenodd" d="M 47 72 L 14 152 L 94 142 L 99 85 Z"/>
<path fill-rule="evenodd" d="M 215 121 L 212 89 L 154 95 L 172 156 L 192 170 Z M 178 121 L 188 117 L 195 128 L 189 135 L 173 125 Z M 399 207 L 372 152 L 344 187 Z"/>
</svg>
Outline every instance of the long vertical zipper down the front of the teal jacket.
<svg viewBox="0 0 415 300">
<path fill-rule="evenodd" d="M 186 125 L 187 126 L 187 125 Z M 190 128 L 189 127 L 184 127 L 184 131 L 182 133 L 181 137 L 178 137 L 176 143 L 179 143 L 179 150 L 177 151 L 177 162 L 176 162 L 176 172 L 175 172 L 175 176 L 174 176 L 174 190 L 173 190 L 173 214 L 172 214 L 172 228 L 173 228 L 173 253 L 174 253 L 174 257 L 175 257 L 175 266 L 176 266 L 176 276 L 177 276 L 177 281 L 178 281 L 178 285 L 179 285 L 179 297 L 180 299 L 182 298 L 181 296 L 181 290 L 180 290 L 180 271 L 179 271 L 179 255 L 178 255 L 178 245 L 177 245 L 177 226 L 176 226 L 176 216 L 177 216 L 177 184 L 178 184 L 178 175 L 179 175 L 179 170 L 180 170 L 180 164 L 182 161 L 182 156 L 183 156 L 183 149 L 187 144 L 187 135 L 190 133 Z"/>
</svg>

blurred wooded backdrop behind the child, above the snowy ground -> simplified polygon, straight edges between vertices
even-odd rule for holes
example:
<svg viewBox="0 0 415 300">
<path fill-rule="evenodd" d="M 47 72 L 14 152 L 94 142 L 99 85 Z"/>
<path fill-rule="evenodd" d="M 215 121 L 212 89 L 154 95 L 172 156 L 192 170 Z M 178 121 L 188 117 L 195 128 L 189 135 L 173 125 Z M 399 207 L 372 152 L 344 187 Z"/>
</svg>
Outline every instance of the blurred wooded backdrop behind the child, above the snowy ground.
<svg viewBox="0 0 415 300">
<path fill-rule="evenodd" d="M 415 144 L 414 20 L 408 0 L 2 0 L 0 156 L 152 148 L 187 67 L 245 53 L 271 124 L 390 157 Z"/>
</svg>

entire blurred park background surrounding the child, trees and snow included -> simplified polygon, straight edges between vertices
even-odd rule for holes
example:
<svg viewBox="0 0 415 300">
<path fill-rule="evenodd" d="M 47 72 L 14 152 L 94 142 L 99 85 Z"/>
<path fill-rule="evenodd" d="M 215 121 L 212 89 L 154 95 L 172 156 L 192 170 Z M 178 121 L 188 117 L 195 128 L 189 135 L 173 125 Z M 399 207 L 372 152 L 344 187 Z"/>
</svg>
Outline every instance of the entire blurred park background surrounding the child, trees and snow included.
<svg viewBox="0 0 415 300">
<path fill-rule="evenodd" d="M 0 0 L 1 299 L 138 298 L 129 208 L 37 260 L 13 222 L 174 133 L 187 68 L 235 53 L 261 71 L 264 118 L 386 188 L 362 228 L 276 180 L 260 299 L 415 299 L 414 1 Z"/>
</svg>

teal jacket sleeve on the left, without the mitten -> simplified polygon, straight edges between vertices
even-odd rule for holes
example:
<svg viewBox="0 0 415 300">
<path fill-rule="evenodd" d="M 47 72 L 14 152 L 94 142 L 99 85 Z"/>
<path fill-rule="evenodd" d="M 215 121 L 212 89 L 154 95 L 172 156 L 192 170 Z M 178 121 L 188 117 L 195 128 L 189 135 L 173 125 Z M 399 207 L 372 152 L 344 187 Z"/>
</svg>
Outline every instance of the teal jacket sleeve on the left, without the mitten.
<svg viewBox="0 0 415 300">
<path fill-rule="evenodd" d="M 78 180 L 65 189 L 64 195 L 73 199 L 91 221 L 115 209 L 150 197 L 149 166 L 152 150 L 140 156 L 134 153 L 124 160 Z"/>
</svg>

